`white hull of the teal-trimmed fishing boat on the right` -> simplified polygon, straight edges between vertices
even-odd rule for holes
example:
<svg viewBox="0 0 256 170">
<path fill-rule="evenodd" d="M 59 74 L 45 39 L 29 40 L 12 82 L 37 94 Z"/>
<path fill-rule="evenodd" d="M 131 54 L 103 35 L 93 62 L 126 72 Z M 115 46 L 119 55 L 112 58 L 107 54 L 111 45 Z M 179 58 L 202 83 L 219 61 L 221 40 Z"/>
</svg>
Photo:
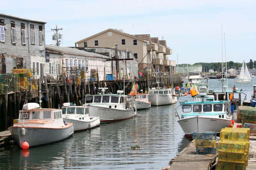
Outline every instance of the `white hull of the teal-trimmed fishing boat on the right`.
<svg viewBox="0 0 256 170">
<path fill-rule="evenodd" d="M 219 133 L 223 128 L 229 126 L 230 120 L 231 118 L 224 119 L 195 116 L 180 119 L 178 123 L 185 134 L 192 134 L 195 131 L 214 131 Z"/>
</svg>

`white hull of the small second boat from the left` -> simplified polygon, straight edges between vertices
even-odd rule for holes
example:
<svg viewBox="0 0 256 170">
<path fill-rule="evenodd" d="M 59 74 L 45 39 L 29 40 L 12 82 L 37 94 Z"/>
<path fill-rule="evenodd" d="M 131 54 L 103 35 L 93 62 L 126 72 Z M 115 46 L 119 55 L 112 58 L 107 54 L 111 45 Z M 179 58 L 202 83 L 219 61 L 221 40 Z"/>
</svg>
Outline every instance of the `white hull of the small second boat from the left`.
<svg viewBox="0 0 256 170">
<path fill-rule="evenodd" d="M 91 129 L 100 124 L 99 117 L 89 117 L 89 118 L 90 118 L 90 120 L 84 121 L 84 120 L 75 120 L 75 119 L 63 117 L 63 120 L 67 123 L 73 123 L 74 131 L 83 131 L 86 129 Z"/>
</svg>

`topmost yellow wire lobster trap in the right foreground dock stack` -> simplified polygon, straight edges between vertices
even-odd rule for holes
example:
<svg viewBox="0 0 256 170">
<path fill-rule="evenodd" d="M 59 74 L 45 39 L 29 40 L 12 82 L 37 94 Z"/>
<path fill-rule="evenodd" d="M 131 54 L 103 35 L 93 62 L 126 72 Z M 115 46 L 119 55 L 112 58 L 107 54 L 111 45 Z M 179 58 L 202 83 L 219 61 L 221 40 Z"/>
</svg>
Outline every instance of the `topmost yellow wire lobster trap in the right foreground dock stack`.
<svg viewBox="0 0 256 170">
<path fill-rule="evenodd" d="M 221 130 L 220 138 L 221 140 L 248 141 L 250 137 L 248 130 L 243 129 L 244 128 L 224 128 Z"/>
</svg>

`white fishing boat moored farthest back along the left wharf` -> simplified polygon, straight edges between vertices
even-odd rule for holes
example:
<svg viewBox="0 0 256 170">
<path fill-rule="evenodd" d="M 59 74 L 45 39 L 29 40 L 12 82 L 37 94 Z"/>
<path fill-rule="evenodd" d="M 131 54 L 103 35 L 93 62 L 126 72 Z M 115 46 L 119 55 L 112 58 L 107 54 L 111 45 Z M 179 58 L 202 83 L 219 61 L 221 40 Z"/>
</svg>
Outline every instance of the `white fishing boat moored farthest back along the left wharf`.
<svg viewBox="0 0 256 170">
<path fill-rule="evenodd" d="M 172 88 L 153 87 L 148 91 L 148 100 L 152 106 L 160 106 L 177 103 L 177 97 L 174 96 Z"/>
</svg>

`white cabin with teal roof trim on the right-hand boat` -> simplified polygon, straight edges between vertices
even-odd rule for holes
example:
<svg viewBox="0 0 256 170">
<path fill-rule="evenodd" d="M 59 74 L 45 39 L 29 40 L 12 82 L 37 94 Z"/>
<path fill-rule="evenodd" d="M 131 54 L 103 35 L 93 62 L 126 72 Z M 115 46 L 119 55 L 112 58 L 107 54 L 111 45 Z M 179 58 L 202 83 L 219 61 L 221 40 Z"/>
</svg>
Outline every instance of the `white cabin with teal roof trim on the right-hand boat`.
<svg viewBox="0 0 256 170">
<path fill-rule="evenodd" d="M 189 116 L 218 115 L 219 118 L 226 118 L 225 101 L 196 101 L 181 103 L 181 118 Z"/>
</svg>

